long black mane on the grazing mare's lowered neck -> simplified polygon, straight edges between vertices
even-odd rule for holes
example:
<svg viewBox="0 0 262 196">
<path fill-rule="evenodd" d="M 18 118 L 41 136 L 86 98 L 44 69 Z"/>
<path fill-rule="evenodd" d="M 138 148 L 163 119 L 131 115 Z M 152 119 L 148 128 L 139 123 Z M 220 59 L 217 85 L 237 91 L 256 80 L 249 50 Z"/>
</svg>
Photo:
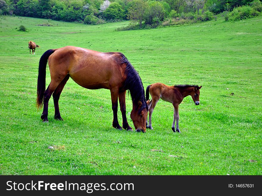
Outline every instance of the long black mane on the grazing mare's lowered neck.
<svg viewBox="0 0 262 196">
<path fill-rule="evenodd" d="M 148 110 L 148 106 L 146 104 L 146 98 L 145 98 L 145 90 L 142 83 L 142 80 L 140 76 L 138 75 L 138 72 L 135 70 L 135 68 L 131 65 L 131 63 L 127 60 L 127 58 L 124 56 L 124 54 L 119 53 L 121 59 L 119 63 L 126 64 L 126 70 L 125 75 L 127 76 L 127 79 L 124 83 L 124 89 L 128 89 L 130 91 L 130 95 L 132 98 L 132 102 L 138 104 L 138 101 L 140 100 L 142 103 L 141 108 L 139 109 L 139 113 L 146 108 Z"/>
</svg>

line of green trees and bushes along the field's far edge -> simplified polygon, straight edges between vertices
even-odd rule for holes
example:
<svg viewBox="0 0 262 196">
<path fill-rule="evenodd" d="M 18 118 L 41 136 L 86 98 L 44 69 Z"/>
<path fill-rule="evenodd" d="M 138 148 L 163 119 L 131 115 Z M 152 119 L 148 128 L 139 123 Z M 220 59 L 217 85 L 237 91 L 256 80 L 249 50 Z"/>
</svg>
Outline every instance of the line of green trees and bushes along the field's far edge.
<svg viewBox="0 0 262 196">
<path fill-rule="evenodd" d="M 253 0 L 0 0 L 0 15 L 48 18 L 57 21 L 99 24 L 131 20 L 155 27 L 167 18 L 210 20 L 213 14 L 231 11 Z M 259 0 L 257 0 L 259 1 Z M 175 19 L 177 18 L 177 19 Z"/>
</svg>

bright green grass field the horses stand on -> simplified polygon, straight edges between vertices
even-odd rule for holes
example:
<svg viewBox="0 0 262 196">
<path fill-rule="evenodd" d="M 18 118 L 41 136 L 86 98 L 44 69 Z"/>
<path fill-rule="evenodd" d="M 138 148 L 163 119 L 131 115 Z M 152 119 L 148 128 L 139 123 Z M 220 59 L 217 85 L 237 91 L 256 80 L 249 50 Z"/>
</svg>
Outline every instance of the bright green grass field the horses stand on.
<svg viewBox="0 0 262 196">
<path fill-rule="evenodd" d="M 262 17 L 121 32 L 115 29 L 128 22 L 38 26 L 45 22 L 0 18 L 1 175 L 262 174 Z M 29 32 L 17 31 L 20 25 Z M 29 40 L 40 46 L 35 55 L 29 55 Z M 153 112 L 154 130 L 119 131 L 112 127 L 110 91 L 69 79 L 59 102 L 64 121 L 54 120 L 51 98 L 49 123 L 42 123 L 35 107 L 39 59 L 68 45 L 122 52 L 144 88 L 202 85 L 200 105 L 191 97 L 180 104 L 181 134 L 171 130 L 173 107 L 162 100 Z M 46 87 L 49 82 L 47 70 Z"/>
</svg>

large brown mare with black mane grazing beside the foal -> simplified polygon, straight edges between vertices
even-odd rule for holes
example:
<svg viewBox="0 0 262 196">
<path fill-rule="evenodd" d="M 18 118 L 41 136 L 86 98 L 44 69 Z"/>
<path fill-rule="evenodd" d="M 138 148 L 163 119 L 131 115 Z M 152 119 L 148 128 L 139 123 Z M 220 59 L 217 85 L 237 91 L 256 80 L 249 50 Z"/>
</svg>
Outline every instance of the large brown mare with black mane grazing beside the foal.
<svg viewBox="0 0 262 196">
<path fill-rule="evenodd" d="M 48 60 L 51 82 L 46 88 L 46 64 Z M 41 119 L 48 122 L 48 101 L 53 94 L 55 115 L 60 116 L 58 100 L 67 82 L 72 78 L 87 89 L 109 89 L 113 109 L 113 127 L 122 129 L 117 120 L 118 99 L 123 119 L 123 128 L 132 130 L 126 117 L 126 90 L 130 91 L 133 109 L 130 117 L 136 131 L 146 132 L 148 106 L 140 76 L 124 54 L 119 52 L 98 52 L 66 46 L 46 51 L 39 61 L 37 82 L 37 107 L 43 106 Z"/>
</svg>

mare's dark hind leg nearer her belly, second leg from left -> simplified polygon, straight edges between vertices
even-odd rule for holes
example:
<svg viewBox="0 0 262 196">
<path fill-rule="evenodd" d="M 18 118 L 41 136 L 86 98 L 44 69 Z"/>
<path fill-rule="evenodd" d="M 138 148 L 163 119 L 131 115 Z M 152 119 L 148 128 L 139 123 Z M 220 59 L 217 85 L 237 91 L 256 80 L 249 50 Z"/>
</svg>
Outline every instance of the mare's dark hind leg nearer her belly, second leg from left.
<svg viewBox="0 0 262 196">
<path fill-rule="evenodd" d="M 69 79 L 69 75 L 67 75 L 61 82 L 60 84 L 57 86 L 57 88 L 54 90 L 53 92 L 53 100 L 54 100 L 54 119 L 56 120 L 63 120 L 63 118 L 60 115 L 60 111 L 59 111 L 59 106 L 58 106 L 58 101 L 61 95 L 61 92 L 63 90 L 63 88 L 66 85 L 66 82 Z"/>
</svg>

